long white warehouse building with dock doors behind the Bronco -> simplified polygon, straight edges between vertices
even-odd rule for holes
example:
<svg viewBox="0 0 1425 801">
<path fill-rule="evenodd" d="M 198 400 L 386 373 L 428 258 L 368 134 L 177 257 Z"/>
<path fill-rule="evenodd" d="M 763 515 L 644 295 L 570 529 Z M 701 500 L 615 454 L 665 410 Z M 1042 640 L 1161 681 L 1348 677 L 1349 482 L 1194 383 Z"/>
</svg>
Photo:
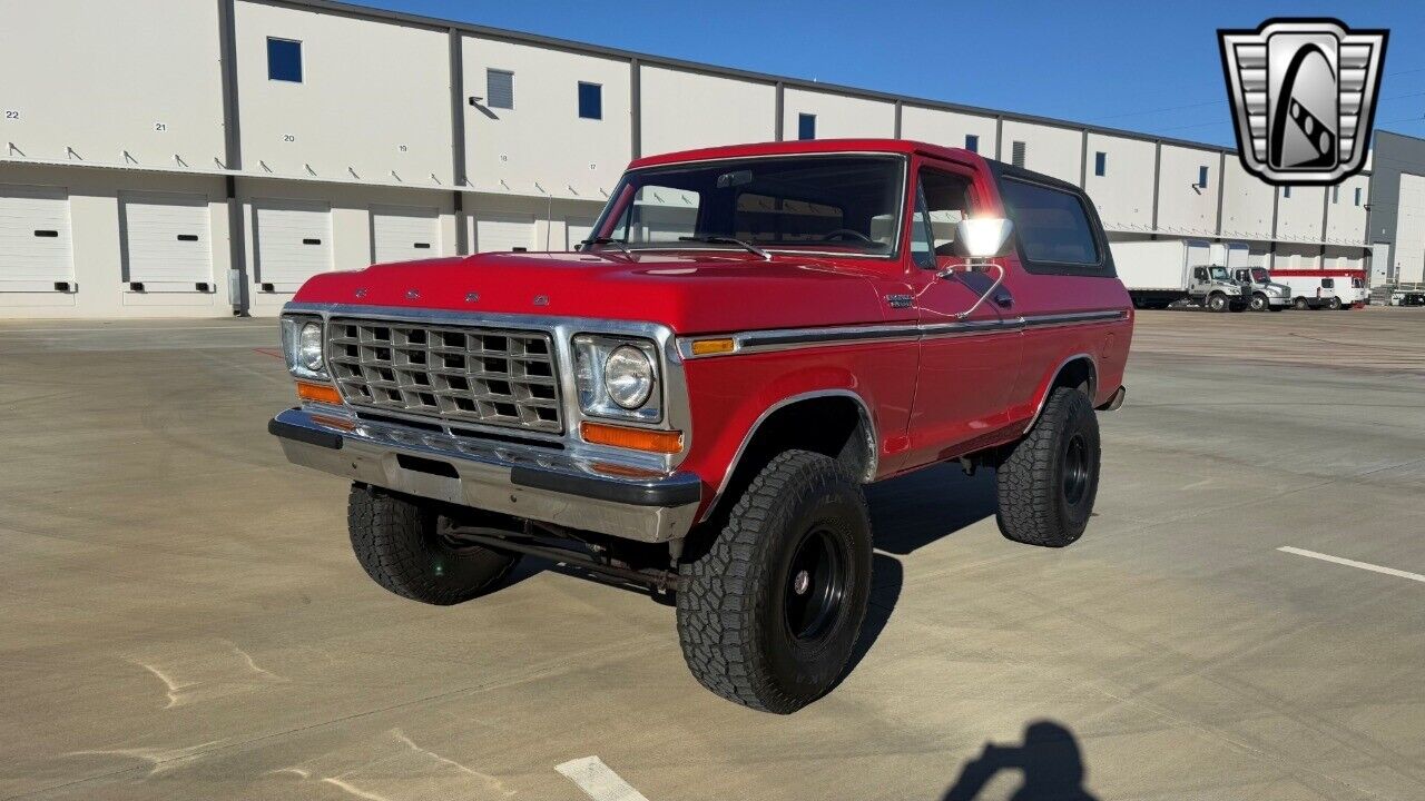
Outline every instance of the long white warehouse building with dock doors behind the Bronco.
<svg viewBox="0 0 1425 801">
<path fill-rule="evenodd" d="M 1013 161 L 1084 187 L 1116 239 L 1371 264 L 1375 284 L 1425 268 L 1408 137 L 1387 181 L 1287 192 L 1214 145 L 326 0 L 6 0 L 3 19 L 0 316 L 274 315 L 315 272 L 566 249 L 631 158 L 798 137 Z"/>
</svg>

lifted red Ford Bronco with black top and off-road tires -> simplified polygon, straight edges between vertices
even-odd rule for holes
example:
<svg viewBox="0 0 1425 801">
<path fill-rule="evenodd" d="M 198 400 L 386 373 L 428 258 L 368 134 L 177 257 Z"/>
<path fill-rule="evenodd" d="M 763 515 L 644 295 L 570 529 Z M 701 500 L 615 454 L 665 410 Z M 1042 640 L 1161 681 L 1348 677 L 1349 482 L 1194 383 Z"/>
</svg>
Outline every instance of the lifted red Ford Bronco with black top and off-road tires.
<svg viewBox="0 0 1425 801">
<path fill-rule="evenodd" d="M 520 554 L 671 590 L 697 680 L 789 713 L 866 611 L 864 483 L 988 465 L 1006 537 L 1079 539 L 1131 332 L 1070 184 L 911 141 L 722 147 L 636 161 L 579 252 L 312 278 L 269 430 L 352 480 L 388 590 L 459 603 Z"/>
</svg>

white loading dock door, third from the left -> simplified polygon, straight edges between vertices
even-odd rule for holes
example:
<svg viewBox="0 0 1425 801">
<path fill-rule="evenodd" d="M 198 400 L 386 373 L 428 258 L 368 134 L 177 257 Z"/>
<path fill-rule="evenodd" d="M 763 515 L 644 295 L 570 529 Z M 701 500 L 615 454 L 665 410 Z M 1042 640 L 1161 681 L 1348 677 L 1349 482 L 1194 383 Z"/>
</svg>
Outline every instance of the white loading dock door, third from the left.
<svg viewBox="0 0 1425 801">
<path fill-rule="evenodd" d="M 308 201 L 254 201 L 256 284 L 264 292 L 296 292 L 332 269 L 332 207 Z"/>
</svg>

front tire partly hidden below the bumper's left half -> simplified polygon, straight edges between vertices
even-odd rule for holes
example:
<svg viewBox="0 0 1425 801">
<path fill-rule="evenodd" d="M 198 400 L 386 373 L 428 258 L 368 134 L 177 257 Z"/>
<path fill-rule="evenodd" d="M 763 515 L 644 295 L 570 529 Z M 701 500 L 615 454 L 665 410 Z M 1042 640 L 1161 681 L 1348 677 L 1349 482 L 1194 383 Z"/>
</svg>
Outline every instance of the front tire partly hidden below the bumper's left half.
<svg viewBox="0 0 1425 801">
<path fill-rule="evenodd" d="M 356 560 L 400 597 L 436 606 L 466 601 L 499 584 L 519 562 L 517 553 L 452 546 L 439 526 L 440 516 L 429 506 L 352 485 L 346 529 Z"/>
</svg>

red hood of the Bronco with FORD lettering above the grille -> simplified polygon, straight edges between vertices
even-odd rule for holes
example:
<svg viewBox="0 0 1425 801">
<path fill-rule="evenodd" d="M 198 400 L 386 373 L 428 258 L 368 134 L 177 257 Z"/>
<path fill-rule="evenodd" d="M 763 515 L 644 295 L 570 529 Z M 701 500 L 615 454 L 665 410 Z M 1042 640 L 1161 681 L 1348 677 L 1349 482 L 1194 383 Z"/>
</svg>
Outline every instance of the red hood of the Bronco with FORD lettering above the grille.
<svg viewBox="0 0 1425 801">
<path fill-rule="evenodd" d="M 754 254 L 480 254 L 312 277 L 296 302 L 663 322 L 680 334 L 878 322 L 868 267 Z M 755 301 L 755 302 L 754 302 Z"/>
</svg>

